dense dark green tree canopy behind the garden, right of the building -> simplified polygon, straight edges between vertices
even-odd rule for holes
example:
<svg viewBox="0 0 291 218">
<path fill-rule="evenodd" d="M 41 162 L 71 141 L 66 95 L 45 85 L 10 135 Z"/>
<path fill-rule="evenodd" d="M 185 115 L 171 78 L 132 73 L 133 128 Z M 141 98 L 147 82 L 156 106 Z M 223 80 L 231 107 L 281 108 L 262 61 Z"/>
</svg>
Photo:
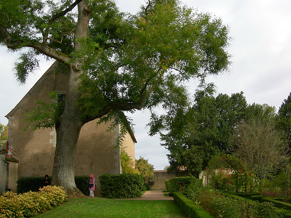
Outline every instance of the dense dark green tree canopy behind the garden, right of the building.
<svg viewBox="0 0 291 218">
<path fill-rule="evenodd" d="M 191 108 L 177 110 L 174 116 L 164 119 L 161 139 L 170 151 L 172 167 L 184 166 L 199 173 L 210 159 L 219 154 L 233 152 L 234 130 L 242 123 L 259 119 L 275 120 L 275 108 L 246 102 L 243 93 L 218 94 L 198 90 Z M 155 130 L 155 129 L 152 129 Z"/>
</svg>

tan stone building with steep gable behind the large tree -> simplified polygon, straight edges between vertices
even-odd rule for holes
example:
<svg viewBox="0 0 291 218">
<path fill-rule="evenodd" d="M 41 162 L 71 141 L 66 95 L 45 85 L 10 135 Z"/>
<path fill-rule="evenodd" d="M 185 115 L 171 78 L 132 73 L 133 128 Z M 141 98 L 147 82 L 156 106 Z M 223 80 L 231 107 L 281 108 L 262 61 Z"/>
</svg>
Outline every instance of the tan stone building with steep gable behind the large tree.
<svg viewBox="0 0 291 218">
<path fill-rule="evenodd" d="M 27 123 L 23 120 L 25 114 L 37 107 L 35 100 L 51 101 L 49 93 L 56 91 L 58 95 L 65 94 L 66 76 L 56 74 L 56 62 L 35 83 L 32 89 L 11 110 L 6 117 L 9 119 L 9 148 L 13 149 L 18 164 L 9 166 L 9 188 L 16 191 L 16 181 L 22 176 L 45 176 L 52 174 L 53 157 L 56 145 L 54 128 L 23 131 Z M 114 143 L 119 133 L 119 127 L 106 132 L 110 124 L 97 125 L 95 121 L 85 124 L 81 128 L 78 141 L 75 173 L 76 175 L 93 174 L 97 179 L 104 173 L 119 174 L 122 172 L 120 163 L 120 148 Z M 125 136 L 122 146 L 135 160 L 133 134 Z M 98 194 L 98 181 L 97 193 Z"/>
</svg>

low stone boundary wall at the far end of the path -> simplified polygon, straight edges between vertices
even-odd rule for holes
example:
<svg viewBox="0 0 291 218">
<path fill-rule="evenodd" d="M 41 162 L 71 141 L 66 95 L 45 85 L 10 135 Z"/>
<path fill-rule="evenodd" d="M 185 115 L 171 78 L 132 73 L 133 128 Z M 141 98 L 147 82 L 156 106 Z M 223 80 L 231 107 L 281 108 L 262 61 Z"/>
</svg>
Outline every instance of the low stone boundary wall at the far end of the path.
<svg viewBox="0 0 291 218">
<path fill-rule="evenodd" d="M 187 171 L 154 171 L 154 176 L 152 178 L 154 186 L 152 187 L 153 190 L 165 190 L 165 180 L 174 178 L 174 177 L 183 177 L 189 176 Z"/>
</svg>

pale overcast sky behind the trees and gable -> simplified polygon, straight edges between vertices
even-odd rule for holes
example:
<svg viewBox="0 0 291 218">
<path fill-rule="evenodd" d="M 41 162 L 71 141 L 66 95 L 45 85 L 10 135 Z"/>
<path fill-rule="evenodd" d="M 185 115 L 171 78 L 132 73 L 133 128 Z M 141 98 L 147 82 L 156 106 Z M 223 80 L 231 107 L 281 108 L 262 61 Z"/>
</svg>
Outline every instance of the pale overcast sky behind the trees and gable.
<svg viewBox="0 0 291 218">
<path fill-rule="evenodd" d="M 243 92 L 249 104 L 259 103 L 280 107 L 291 92 L 291 1 L 290 0 L 182 0 L 199 11 L 222 18 L 229 26 L 232 38 L 229 53 L 232 55 L 230 71 L 208 80 L 217 86 L 217 93 Z M 144 0 L 116 0 L 122 11 L 135 14 Z M 41 62 L 41 68 L 19 86 L 13 76 L 13 62 L 17 55 L 0 47 L 0 123 L 29 91 L 51 62 Z M 196 84 L 189 89 L 195 90 Z M 135 156 L 143 156 L 155 170 L 169 165 L 167 151 L 159 137 L 147 136 L 148 113 L 132 116 L 135 124 Z"/>
</svg>

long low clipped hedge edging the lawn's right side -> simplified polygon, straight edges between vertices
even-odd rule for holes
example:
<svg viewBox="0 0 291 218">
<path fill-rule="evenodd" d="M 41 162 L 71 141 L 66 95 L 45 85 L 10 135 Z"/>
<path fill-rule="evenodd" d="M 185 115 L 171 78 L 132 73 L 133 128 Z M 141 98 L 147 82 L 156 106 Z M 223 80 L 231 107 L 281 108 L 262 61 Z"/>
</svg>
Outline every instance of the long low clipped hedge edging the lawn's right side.
<svg viewBox="0 0 291 218">
<path fill-rule="evenodd" d="M 184 211 L 187 217 L 191 218 L 211 218 L 210 214 L 196 205 L 193 201 L 186 198 L 182 193 L 173 193 L 174 201 Z"/>
</svg>

